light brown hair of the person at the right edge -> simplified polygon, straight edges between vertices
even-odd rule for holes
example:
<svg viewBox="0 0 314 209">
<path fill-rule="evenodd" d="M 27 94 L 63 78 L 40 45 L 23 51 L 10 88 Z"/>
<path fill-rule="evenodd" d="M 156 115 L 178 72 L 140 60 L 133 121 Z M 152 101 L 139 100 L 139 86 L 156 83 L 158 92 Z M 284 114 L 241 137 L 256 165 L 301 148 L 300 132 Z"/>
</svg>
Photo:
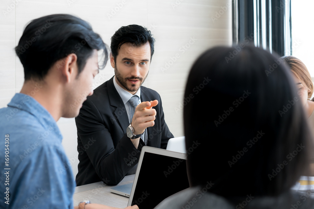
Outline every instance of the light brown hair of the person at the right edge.
<svg viewBox="0 0 314 209">
<path fill-rule="evenodd" d="M 290 70 L 295 74 L 295 76 L 301 81 L 302 85 L 305 86 L 310 92 L 308 92 L 307 98 L 312 97 L 314 88 L 313 81 L 310 72 L 304 63 L 294 56 L 284 56 L 281 57 L 282 60 L 289 66 Z"/>
</svg>

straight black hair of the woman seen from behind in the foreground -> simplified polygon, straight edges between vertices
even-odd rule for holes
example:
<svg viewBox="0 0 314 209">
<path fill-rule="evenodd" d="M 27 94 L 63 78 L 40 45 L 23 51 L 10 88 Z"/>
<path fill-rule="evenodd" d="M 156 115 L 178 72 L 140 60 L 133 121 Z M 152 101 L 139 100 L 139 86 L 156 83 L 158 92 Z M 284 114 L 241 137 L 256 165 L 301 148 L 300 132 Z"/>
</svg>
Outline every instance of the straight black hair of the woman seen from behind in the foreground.
<svg viewBox="0 0 314 209">
<path fill-rule="evenodd" d="M 186 148 L 199 143 L 187 156 L 190 184 L 214 183 L 209 191 L 225 197 L 276 196 L 306 170 L 310 130 L 279 57 L 253 46 L 235 49 L 206 51 L 189 73 Z"/>
</svg>

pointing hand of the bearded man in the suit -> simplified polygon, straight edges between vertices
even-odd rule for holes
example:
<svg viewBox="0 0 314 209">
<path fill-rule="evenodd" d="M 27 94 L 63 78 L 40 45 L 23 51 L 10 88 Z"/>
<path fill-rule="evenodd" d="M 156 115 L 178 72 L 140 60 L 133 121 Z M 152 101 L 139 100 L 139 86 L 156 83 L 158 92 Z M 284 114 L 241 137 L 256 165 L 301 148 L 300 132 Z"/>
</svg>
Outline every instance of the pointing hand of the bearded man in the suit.
<svg viewBox="0 0 314 209">
<path fill-rule="evenodd" d="M 154 126 L 157 112 L 152 107 L 157 104 L 158 100 L 154 100 L 142 102 L 136 107 L 131 123 L 135 135 L 143 133 L 147 127 Z"/>
</svg>

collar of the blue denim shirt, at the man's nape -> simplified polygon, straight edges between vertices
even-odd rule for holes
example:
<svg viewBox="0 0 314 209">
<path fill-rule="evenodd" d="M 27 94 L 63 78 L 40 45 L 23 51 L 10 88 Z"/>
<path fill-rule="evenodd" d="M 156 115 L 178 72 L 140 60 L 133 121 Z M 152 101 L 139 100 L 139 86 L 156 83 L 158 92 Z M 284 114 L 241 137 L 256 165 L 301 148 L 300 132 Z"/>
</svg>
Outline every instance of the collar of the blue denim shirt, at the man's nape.
<svg viewBox="0 0 314 209">
<path fill-rule="evenodd" d="M 15 109 L 17 109 L 17 111 L 24 110 L 34 115 L 45 129 L 52 129 L 53 132 L 62 140 L 62 134 L 52 115 L 33 97 L 22 93 L 16 93 L 11 99 L 11 102 L 8 103 L 8 107 L 14 107 L 14 111 Z"/>
</svg>

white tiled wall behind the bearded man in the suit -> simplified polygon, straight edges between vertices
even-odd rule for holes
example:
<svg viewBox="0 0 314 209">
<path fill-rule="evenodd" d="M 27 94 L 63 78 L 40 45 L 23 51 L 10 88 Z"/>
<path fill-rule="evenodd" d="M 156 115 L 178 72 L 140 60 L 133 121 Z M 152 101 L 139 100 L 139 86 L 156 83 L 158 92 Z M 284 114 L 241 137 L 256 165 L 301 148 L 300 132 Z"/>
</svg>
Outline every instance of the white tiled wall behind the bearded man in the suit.
<svg viewBox="0 0 314 209">
<path fill-rule="evenodd" d="M 182 136 L 180 102 L 193 61 L 212 46 L 231 45 L 231 7 L 226 7 L 227 3 L 231 0 L 1 0 L 0 108 L 6 107 L 23 85 L 23 66 L 14 54 L 14 47 L 25 25 L 44 15 L 69 13 L 87 20 L 108 45 L 111 36 L 123 25 L 139 24 L 152 31 L 155 53 L 144 86 L 160 93 L 171 132 L 175 137 Z M 217 19 L 213 19 L 215 16 Z M 113 69 L 107 65 L 95 77 L 95 87 L 113 75 Z M 76 175 L 74 119 L 61 118 L 58 125 Z"/>
</svg>

